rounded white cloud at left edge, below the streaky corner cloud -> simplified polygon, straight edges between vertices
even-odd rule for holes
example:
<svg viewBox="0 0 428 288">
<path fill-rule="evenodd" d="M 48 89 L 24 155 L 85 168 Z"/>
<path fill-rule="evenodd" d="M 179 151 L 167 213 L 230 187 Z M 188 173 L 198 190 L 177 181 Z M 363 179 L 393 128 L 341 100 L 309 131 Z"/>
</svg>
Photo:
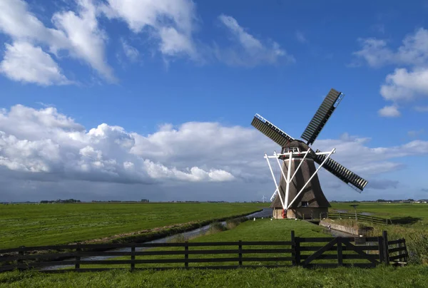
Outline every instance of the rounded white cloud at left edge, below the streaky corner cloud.
<svg viewBox="0 0 428 288">
<path fill-rule="evenodd" d="M 15 42 L 12 45 L 6 43 L 0 73 L 14 81 L 41 86 L 71 83 L 48 53 L 26 42 Z"/>
</svg>

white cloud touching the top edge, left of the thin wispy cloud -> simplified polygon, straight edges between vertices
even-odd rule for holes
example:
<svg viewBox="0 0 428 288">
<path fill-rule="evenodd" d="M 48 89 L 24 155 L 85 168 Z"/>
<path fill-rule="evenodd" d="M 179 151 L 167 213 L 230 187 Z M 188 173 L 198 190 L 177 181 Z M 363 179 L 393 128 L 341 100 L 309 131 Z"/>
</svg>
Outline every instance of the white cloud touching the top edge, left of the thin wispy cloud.
<svg viewBox="0 0 428 288">
<path fill-rule="evenodd" d="M 107 0 L 100 10 L 109 19 L 121 19 L 133 33 L 157 38 L 164 56 L 198 58 L 193 43 L 195 4 L 191 0 Z"/>
</svg>

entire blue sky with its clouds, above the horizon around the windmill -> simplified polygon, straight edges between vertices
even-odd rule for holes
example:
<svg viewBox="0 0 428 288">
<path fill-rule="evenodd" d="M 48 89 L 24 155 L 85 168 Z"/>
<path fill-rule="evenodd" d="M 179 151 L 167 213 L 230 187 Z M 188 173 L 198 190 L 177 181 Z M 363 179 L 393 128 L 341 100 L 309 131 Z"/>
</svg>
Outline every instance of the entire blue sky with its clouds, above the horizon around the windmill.
<svg viewBox="0 0 428 288">
<path fill-rule="evenodd" d="M 372 187 L 325 173 L 327 197 L 428 198 L 427 1 L 128 5 L 0 4 L 5 200 L 73 195 L 64 185 L 88 200 L 258 199 L 277 147 L 253 115 L 299 138 L 330 88 L 345 98 L 313 147 Z"/>
</svg>

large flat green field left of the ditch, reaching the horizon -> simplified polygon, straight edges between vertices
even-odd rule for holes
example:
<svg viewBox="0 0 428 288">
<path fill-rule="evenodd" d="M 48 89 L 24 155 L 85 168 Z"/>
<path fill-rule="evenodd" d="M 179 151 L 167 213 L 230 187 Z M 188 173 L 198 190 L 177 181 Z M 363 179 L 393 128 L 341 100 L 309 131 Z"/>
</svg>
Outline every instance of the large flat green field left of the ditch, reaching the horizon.
<svg viewBox="0 0 428 288">
<path fill-rule="evenodd" d="M 0 205 L 0 249 L 126 236 L 123 233 L 242 215 L 261 207 L 261 203 Z"/>
</svg>

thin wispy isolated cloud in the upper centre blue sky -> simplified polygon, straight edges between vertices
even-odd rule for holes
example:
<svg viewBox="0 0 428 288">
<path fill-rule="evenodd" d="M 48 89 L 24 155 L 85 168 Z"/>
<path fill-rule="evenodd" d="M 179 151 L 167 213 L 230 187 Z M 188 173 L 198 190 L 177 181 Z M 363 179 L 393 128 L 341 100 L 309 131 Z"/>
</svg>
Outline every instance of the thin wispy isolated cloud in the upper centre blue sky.
<svg viewBox="0 0 428 288">
<path fill-rule="evenodd" d="M 287 54 L 275 41 L 262 43 L 258 38 L 249 34 L 232 16 L 218 16 L 232 35 L 235 47 L 217 48 L 215 56 L 230 66 L 272 65 L 280 61 L 295 62 L 295 58 Z"/>
</svg>

